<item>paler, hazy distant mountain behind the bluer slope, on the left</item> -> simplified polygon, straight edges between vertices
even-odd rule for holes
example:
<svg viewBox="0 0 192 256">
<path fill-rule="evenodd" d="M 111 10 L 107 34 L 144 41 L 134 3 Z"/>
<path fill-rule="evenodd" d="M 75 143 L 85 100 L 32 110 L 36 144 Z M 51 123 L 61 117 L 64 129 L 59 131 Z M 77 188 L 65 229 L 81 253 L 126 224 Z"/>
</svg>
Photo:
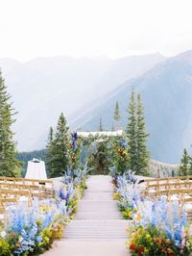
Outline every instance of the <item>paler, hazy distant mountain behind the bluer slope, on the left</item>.
<svg viewBox="0 0 192 256">
<path fill-rule="evenodd" d="M 95 102 L 109 91 L 164 60 L 160 54 L 117 60 L 59 56 L 36 58 L 26 63 L 0 59 L 13 106 L 18 112 L 13 125 L 17 149 L 44 148 L 49 127 L 56 126 L 61 112 L 69 123 L 74 122 L 77 112 L 80 115 L 87 108 L 95 107 Z"/>
</svg>

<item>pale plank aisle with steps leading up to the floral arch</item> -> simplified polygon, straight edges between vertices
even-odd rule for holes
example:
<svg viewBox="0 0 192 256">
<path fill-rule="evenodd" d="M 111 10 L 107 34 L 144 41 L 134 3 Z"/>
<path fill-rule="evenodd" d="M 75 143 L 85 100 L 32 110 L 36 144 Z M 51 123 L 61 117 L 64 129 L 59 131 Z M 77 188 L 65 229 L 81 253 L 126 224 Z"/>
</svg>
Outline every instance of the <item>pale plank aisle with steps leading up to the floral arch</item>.
<svg viewBox="0 0 192 256">
<path fill-rule="evenodd" d="M 126 226 L 112 199 L 111 178 L 90 176 L 78 214 L 45 256 L 128 256 Z"/>
</svg>

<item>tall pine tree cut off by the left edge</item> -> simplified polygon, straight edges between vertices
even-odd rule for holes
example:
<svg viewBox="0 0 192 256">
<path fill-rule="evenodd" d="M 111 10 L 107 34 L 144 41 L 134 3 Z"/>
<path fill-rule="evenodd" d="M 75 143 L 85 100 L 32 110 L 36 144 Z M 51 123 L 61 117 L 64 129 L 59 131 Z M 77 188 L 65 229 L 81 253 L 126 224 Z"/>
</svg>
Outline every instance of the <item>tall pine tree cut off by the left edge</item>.
<svg viewBox="0 0 192 256">
<path fill-rule="evenodd" d="M 0 71 L 0 175 L 3 176 L 17 175 L 19 166 L 12 133 L 13 111 L 11 95 Z"/>
</svg>

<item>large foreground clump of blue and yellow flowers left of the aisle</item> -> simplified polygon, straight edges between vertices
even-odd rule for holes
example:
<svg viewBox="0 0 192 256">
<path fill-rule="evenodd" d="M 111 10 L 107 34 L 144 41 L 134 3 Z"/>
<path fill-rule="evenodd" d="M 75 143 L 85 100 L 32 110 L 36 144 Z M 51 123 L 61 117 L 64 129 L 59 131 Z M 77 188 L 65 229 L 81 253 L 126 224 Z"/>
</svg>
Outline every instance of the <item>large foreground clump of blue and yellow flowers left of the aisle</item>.
<svg viewBox="0 0 192 256">
<path fill-rule="evenodd" d="M 55 199 L 32 207 L 23 204 L 10 206 L 4 225 L 1 225 L 0 255 L 30 255 L 49 248 L 62 234 L 69 220 L 65 204 Z"/>
</svg>

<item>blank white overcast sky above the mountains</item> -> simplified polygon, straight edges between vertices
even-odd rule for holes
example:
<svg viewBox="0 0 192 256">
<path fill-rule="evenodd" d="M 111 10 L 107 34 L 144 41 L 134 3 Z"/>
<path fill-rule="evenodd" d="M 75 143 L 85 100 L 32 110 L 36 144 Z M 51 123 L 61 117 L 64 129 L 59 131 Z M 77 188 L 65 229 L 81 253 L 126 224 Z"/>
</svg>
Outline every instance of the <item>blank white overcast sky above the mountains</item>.
<svg viewBox="0 0 192 256">
<path fill-rule="evenodd" d="M 0 0 L 0 58 L 192 49 L 191 0 Z"/>
</svg>

